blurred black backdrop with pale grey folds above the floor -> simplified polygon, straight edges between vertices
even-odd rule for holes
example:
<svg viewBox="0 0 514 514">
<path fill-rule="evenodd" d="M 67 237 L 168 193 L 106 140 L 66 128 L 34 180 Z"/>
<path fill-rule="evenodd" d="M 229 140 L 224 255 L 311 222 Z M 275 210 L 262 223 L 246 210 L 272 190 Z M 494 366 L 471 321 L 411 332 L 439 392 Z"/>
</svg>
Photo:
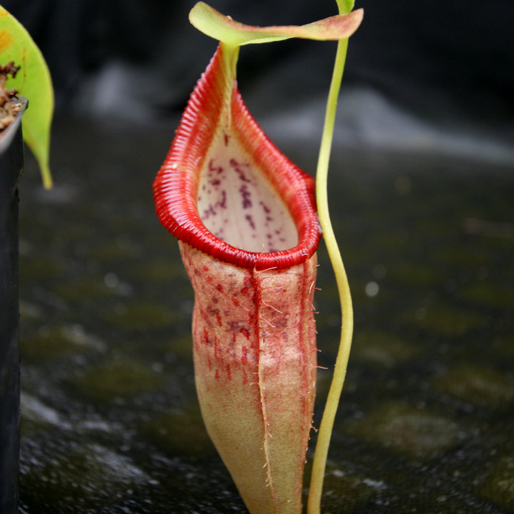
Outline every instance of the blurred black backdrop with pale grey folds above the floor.
<svg viewBox="0 0 514 514">
<path fill-rule="evenodd" d="M 4 2 L 48 61 L 59 113 L 131 121 L 178 114 L 205 69 L 216 43 L 189 24 L 193 5 Z M 336 13 L 329 1 L 211 5 L 255 25 L 304 24 Z M 514 158 L 512 3 L 358 0 L 355 7 L 364 8 L 364 23 L 351 39 L 338 137 L 353 145 Z M 291 137 L 317 138 L 334 52 L 329 43 L 303 41 L 245 47 L 238 78 L 250 111 L 258 120 L 275 118 L 277 131 Z"/>
</svg>

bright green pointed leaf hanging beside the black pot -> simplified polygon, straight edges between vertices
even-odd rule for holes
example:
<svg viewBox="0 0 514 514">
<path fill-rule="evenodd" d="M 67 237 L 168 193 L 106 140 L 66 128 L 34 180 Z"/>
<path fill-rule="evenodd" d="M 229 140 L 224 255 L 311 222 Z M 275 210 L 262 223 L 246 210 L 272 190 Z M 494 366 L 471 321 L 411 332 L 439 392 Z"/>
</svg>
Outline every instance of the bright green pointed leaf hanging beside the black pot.
<svg viewBox="0 0 514 514">
<path fill-rule="evenodd" d="M 43 54 L 30 34 L 8 11 L 0 6 L 0 64 L 13 61 L 21 66 L 9 88 L 17 89 L 29 99 L 23 115 L 23 137 L 38 160 L 43 185 L 52 187 L 49 168 L 50 125 L 53 115 L 53 87 Z"/>
</svg>

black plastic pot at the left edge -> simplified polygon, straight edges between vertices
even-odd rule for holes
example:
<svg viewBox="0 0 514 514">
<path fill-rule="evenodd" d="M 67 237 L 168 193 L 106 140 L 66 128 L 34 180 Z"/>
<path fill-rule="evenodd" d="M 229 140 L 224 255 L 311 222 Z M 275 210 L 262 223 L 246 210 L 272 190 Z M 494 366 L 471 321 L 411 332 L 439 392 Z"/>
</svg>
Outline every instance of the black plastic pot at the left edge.
<svg viewBox="0 0 514 514">
<path fill-rule="evenodd" d="M 23 103 L 23 111 L 28 102 Z M 18 179 L 23 170 L 22 113 L 0 133 L 0 512 L 18 511 L 20 354 Z"/>
</svg>

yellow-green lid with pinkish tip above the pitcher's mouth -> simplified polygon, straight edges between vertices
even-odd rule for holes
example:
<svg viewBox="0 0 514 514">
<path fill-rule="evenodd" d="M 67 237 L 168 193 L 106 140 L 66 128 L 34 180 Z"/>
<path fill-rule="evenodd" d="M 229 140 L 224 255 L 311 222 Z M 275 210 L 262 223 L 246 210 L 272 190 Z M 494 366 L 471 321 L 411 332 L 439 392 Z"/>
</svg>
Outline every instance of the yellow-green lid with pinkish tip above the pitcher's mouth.
<svg viewBox="0 0 514 514">
<path fill-rule="evenodd" d="M 211 38 L 229 46 L 241 46 L 289 38 L 318 41 L 347 39 L 357 30 L 362 16 L 363 10 L 357 9 L 349 14 L 331 16 L 307 25 L 256 27 L 236 22 L 230 16 L 221 14 L 204 2 L 198 2 L 189 13 L 189 21 Z"/>
</svg>

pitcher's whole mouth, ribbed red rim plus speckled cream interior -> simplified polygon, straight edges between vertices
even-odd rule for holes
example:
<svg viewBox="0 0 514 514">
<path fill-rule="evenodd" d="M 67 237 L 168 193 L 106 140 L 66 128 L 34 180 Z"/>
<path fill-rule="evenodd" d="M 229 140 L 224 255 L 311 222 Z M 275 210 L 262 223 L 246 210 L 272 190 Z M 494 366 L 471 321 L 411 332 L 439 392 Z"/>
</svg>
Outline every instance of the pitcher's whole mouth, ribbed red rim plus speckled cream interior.
<svg viewBox="0 0 514 514">
<path fill-rule="evenodd" d="M 223 51 L 198 81 L 155 178 L 157 215 L 180 241 L 238 267 L 303 263 L 321 237 L 314 179 L 248 112 Z"/>
</svg>

